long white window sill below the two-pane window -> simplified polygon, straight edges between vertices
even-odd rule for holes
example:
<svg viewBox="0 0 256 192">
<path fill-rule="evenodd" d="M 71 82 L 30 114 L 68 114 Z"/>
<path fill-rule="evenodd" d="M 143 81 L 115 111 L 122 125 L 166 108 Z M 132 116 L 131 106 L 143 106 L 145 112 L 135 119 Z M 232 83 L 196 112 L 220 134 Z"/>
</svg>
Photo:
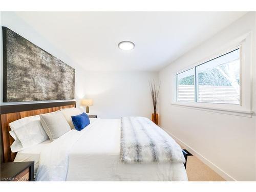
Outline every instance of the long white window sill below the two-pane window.
<svg viewBox="0 0 256 192">
<path fill-rule="evenodd" d="M 184 107 L 184 108 L 195 109 L 195 110 L 209 111 L 209 112 L 228 114 L 228 115 L 237 115 L 237 116 L 243 116 L 243 117 L 252 117 L 252 114 L 253 114 L 253 111 L 233 110 L 233 109 L 215 108 L 211 106 L 196 105 L 201 103 L 192 104 L 192 103 L 172 102 L 170 104 Z"/>
</svg>

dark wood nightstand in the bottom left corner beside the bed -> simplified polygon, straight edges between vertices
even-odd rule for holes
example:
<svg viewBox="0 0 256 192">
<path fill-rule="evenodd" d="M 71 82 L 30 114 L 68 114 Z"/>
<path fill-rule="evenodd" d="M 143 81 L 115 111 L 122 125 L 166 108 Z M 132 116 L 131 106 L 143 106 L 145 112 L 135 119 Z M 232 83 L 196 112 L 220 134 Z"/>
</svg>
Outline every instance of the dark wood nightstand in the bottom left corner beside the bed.
<svg viewBox="0 0 256 192">
<path fill-rule="evenodd" d="M 1 163 L 0 181 L 34 181 L 34 161 Z"/>
</svg>

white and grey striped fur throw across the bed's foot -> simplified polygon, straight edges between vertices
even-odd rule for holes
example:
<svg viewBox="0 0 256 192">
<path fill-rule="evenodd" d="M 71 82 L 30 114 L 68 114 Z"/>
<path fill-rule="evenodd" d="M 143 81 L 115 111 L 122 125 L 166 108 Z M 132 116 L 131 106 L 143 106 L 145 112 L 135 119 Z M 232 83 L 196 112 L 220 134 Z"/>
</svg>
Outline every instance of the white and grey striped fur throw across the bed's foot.
<svg viewBox="0 0 256 192">
<path fill-rule="evenodd" d="M 144 117 L 121 118 L 120 153 L 124 163 L 185 162 L 174 139 Z"/>
</svg>

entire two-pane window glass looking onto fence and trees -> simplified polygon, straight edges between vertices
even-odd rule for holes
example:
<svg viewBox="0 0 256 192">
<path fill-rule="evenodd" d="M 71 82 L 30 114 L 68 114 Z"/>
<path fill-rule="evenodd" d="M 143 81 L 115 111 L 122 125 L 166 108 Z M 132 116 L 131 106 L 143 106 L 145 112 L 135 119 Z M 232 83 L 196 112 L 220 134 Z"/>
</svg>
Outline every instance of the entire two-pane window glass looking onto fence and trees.
<svg viewBox="0 0 256 192">
<path fill-rule="evenodd" d="M 240 48 L 177 74 L 176 101 L 240 104 Z"/>
</svg>

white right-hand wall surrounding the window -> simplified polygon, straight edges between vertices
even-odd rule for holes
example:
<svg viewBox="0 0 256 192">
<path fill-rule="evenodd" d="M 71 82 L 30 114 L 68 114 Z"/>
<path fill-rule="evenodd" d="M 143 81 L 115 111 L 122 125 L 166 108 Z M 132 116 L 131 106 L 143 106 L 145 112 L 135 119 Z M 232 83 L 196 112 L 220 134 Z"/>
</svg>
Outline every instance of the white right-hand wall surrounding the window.
<svg viewBox="0 0 256 192">
<path fill-rule="evenodd" d="M 184 108 L 170 104 L 174 96 L 173 75 L 221 51 L 224 44 L 252 31 L 255 41 L 255 13 L 250 12 L 189 51 L 159 72 L 160 124 L 178 142 L 227 180 L 255 181 L 255 114 L 234 116 Z M 253 43 L 254 45 L 254 43 Z M 252 51 L 255 50 L 252 48 Z M 255 55 L 255 52 L 253 52 Z M 255 71 L 255 60 L 253 60 Z M 255 89 L 255 74 L 253 74 Z M 253 111 L 255 111 L 255 91 Z"/>
</svg>

